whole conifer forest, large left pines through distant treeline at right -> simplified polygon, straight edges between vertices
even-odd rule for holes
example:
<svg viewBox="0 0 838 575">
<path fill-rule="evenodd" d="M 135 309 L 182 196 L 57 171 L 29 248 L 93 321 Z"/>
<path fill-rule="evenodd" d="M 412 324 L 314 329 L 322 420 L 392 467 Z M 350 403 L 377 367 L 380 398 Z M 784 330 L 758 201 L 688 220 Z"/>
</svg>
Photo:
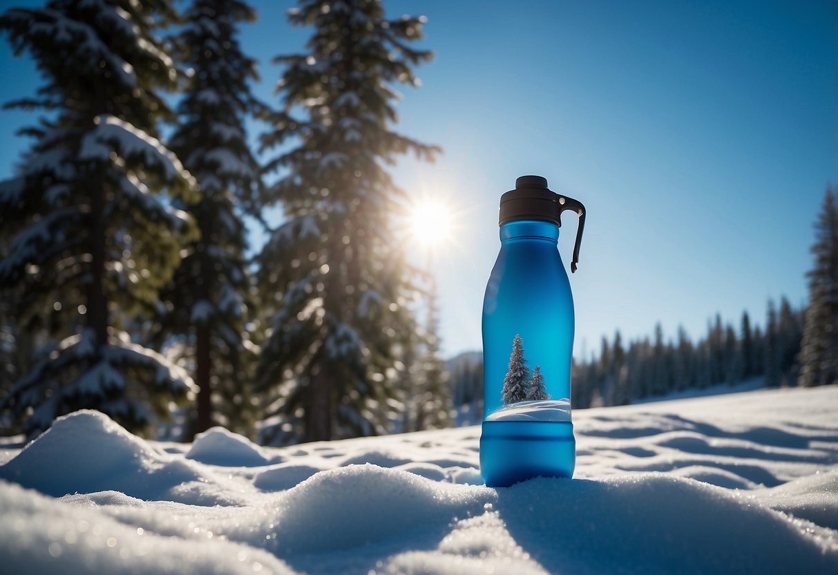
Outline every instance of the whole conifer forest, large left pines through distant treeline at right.
<svg viewBox="0 0 838 575">
<path fill-rule="evenodd" d="M 4 102 L 33 121 L 0 182 L 0 433 L 83 408 L 149 437 L 220 425 L 272 445 L 479 421 L 482 365 L 442 358 L 435 284 L 395 240 L 411 190 L 391 166 L 443 150 L 397 130 L 396 87 L 433 54 L 424 18 L 384 4 L 301 0 L 276 27 L 308 41 L 272 63 L 241 48 L 244 0 L 4 4 L 0 36 L 41 83 Z M 716 315 L 699 339 L 603 337 L 575 359 L 573 407 L 838 381 L 835 191 L 801 231 L 808 302 Z"/>
</svg>

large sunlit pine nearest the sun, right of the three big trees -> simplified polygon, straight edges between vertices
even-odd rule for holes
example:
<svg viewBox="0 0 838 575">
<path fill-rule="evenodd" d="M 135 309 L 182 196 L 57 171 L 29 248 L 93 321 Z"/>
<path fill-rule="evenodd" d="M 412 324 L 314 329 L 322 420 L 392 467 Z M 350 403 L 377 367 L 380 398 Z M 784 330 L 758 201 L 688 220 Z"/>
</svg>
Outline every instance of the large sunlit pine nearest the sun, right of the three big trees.
<svg viewBox="0 0 838 575">
<path fill-rule="evenodd" d="M 432 56 L 409 46 L 425 18 L 385 18 L 380 0 L 301 0 L 289 19 L 314 31 L 306 53 L 276 59 L 285 111 L 262 139 L 272 148 L 292 138 L 267 164 L 280 170 L 268 196 L 287 220 L 259 256 L 274 313 L 258 379 L 277 416 L 263 436 L 385 433 L 416 330 L 413 272 L 391 224 L 406 194 L 385 165 L 438 152 L 391 130 L 393 85 L 418 85 L 413 68 Z"/>
</svg>

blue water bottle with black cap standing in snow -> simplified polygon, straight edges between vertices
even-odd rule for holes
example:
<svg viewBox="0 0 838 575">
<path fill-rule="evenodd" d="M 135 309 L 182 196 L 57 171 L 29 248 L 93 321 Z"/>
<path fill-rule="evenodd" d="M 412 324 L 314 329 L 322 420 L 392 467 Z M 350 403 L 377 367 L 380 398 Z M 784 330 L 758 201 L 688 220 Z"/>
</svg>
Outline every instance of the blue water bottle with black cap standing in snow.
<svg viewBox="0 0 838 575">
<path fill-rule="evenodd" d="M 500 253 L 483 305 L 484 421 L 480 472 L 489 487 L 572 477 L 573 296 L 557 248 L 561 213 L 585 206 L 521 176 L 500 198 Z"/>
</svg>

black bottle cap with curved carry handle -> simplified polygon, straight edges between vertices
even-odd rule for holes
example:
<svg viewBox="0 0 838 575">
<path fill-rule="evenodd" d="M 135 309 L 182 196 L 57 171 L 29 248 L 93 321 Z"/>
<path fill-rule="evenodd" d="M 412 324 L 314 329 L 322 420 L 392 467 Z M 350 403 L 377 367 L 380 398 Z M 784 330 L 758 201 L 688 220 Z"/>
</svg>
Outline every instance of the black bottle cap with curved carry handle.
<svg viewBox="0 0 838 575">
<path fill-rule="evenodd" d="M 547 179 L 541 176 L 521 176 L 515 180 L 515 189 L 500 196 L 499 225 L 516 220 L 551 221 L 561 227 L 561 212 L 573 210 L 579 216 L 576 243 L 573 246 L 571 272 L 576 272 L 579 262 L 579 245 L 585 227 L 585 206 L 577 199 L 556 194 L 547 188 Z"/>
</svg>

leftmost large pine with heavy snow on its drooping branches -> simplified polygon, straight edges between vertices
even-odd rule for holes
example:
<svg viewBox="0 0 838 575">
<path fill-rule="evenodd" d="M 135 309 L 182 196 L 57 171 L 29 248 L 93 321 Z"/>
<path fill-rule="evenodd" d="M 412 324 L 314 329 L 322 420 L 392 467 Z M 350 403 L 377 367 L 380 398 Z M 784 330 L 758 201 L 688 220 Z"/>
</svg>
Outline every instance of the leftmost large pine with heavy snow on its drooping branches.
<svg viewBox="0 0 838 575">
<path fill-rule="evenodd" d="M 157 90 L 176 72 L 154 29 L 172 16 L 162 0 L 51 0 L 0 17 L 44 77 L 36 96 L 11 103 L 46 113 L 23 130 L 34 145 L 18 176 L 0 184 L 11 242 L 0 288 L 22 325 L 35 319 L 54 341 L 0 405 L 28 416 L 30 434 L 81 407 L 137 429 L 194 385 L 124 329 L 157 303 L 191 227 L 157 194 L 194 186 L 156 137 L 168 117 Z"/>
</svg>

